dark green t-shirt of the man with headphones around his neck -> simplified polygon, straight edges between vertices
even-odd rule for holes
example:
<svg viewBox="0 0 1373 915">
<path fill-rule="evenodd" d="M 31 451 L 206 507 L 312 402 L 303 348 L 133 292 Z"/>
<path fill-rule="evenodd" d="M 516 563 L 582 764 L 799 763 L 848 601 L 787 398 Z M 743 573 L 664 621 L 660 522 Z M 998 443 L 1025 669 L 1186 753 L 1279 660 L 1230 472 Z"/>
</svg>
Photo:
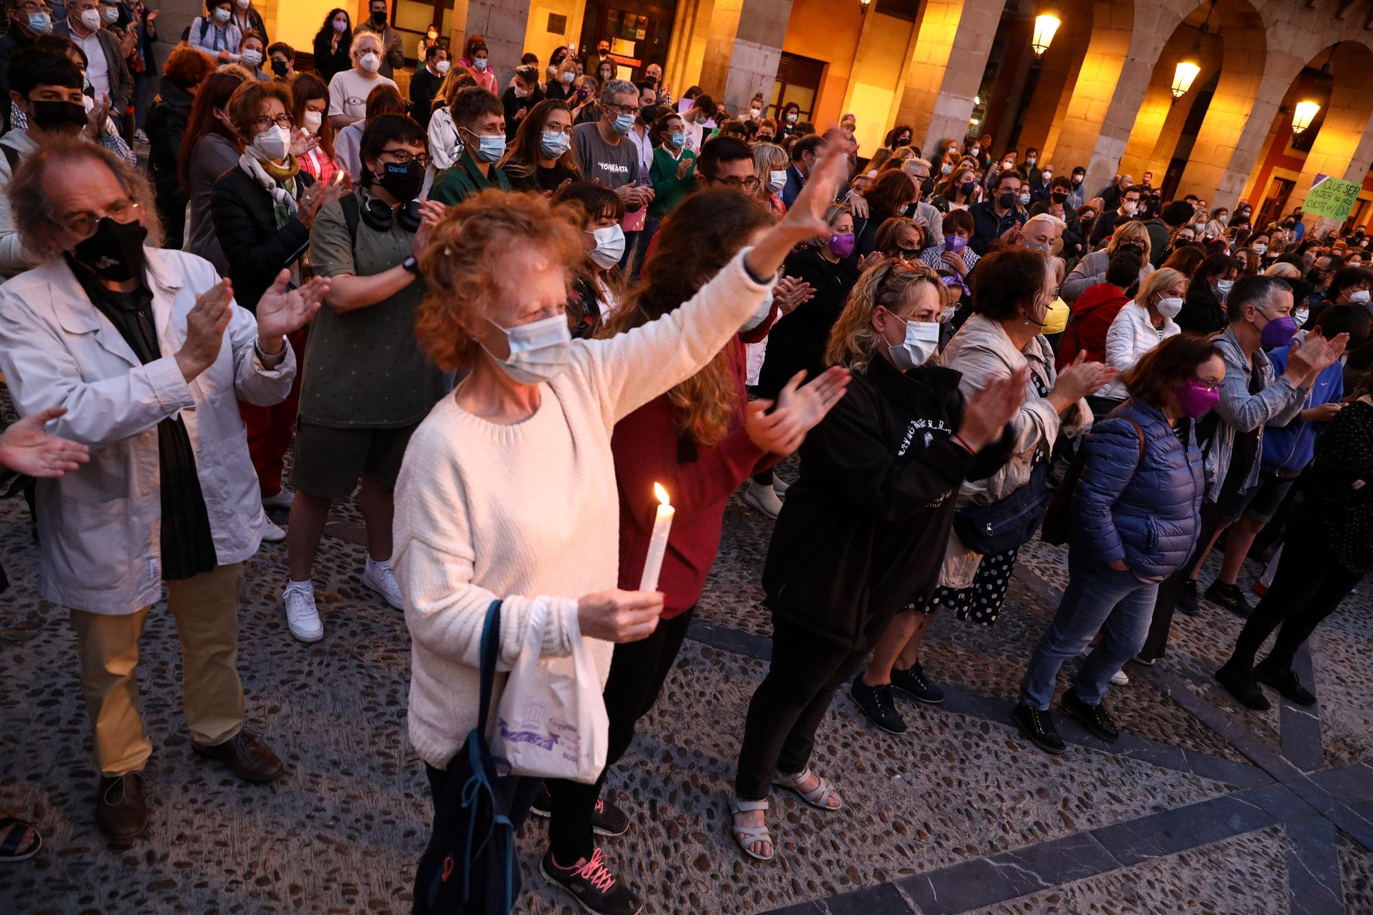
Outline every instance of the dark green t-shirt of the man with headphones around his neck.
<svg viewBox="0 0 1373 915">
<path fill-rule="evenodd" d="M 358 205 L 365 199 L 360 188 Z M 354 243 L 338 201 L 321 209 L 310 228 L 316 276 L 372 276 L 413 249 L 415 234 L 398 220 L 380 232 L 360 218 Z M 424 279 L 416 278 L 376 305 L 342 315 L 328 304 L 320 308 L 305 346 L 301 419 L 331 429 L 398 429 L 424 419 L 446 383 L 415 337 L 415 309 L 423 298 Z"/>
</svg>

